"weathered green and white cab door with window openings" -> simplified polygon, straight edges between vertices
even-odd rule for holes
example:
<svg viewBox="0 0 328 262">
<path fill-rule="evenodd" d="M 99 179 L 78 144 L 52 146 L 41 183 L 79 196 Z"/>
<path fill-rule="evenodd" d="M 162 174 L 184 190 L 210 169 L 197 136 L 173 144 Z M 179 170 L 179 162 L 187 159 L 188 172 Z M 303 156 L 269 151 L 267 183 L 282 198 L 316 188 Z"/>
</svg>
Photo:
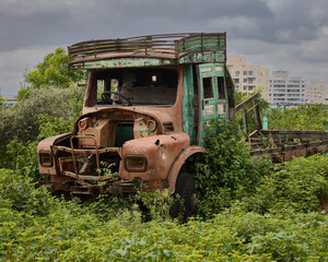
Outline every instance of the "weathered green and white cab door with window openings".
<svg viewBox="0 0 328 262">
<path fill-rule="evenodd" d="M 224 67 L 219 63 L 203 63 L 197 66 L 199 124 L 197 143 L 204 146 L 203 138 L 208 134 L 206 126 L 212 118 L 229 119 L 229 104 Z"/>
</svg>

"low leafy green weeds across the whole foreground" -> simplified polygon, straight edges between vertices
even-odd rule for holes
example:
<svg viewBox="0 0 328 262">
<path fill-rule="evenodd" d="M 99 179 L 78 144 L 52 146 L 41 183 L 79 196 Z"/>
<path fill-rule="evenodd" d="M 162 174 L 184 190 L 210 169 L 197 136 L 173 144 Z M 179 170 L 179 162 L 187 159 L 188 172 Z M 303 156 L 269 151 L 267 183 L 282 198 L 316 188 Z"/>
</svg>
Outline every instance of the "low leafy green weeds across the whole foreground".
<svg viewBox="0 0 328 262">
<path fill-rule="evenodd" d="M 328 216 L 318 213 L 285 218 L 233 207 L 206 222 L 141 223 L 137 206 L 114 213 L 110 203 L 63 202 L 1 171 L 1 261 L 325 261 L 328 252 Z"/>
</svg>

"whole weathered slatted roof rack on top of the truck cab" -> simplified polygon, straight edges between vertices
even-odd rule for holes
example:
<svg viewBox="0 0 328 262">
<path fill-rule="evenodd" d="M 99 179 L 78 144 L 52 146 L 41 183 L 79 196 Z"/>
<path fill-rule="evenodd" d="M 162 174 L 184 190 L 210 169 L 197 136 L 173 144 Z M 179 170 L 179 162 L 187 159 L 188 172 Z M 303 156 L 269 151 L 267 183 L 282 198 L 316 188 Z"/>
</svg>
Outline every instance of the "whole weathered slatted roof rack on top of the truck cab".
<svg viewBox="0 0 328 262">
<path fill-rule="evenodd" d="M 226 34 L 181 33 L 118 39 L 87 40 L 68 47 L 70 69 L 114 58 L 155 58 L 166 64 L 225 62 Z"/>
</svg>

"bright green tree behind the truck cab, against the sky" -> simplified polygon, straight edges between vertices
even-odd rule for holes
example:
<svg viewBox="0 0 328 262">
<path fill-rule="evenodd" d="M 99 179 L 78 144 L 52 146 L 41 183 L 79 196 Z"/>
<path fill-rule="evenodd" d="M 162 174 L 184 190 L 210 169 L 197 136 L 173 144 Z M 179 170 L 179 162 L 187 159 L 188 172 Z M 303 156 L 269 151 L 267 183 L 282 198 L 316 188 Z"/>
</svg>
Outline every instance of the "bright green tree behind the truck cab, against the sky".
<svg viewBox="0 0 328 262">
<path fill-rule="evenodd" d="M 34 88 L 45 86 L 68 87 L 72 82 L 83 79 L 82 70 L 69 70 L 68 55 L 63 48 L 57 48 L 55 52 L 47 55 L 42 63 L 30 71 L 25 78 Z"/>
</svg>

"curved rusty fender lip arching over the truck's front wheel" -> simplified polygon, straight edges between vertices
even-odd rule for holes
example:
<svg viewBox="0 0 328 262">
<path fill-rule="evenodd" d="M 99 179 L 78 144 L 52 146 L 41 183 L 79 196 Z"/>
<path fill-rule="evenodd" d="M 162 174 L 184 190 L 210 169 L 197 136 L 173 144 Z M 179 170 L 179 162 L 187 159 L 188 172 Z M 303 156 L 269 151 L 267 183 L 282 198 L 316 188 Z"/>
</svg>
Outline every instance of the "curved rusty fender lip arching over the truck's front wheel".
<svg viewBox="0 0 328 262">
<path fill-rule="evenodd" d="M 173 163 L 168 175 L 167 175 L 167 181 L 168 181 L 168 187 L 169 187 L 169 191 L 171 193 L 174 193 L 175 191 L 175 183 L 176 183 L 176 179 L 177 176 L 181 169 L 181 166 L 185 164 L 185 162 L 194 154 L 196 153 L 206 153 L 206 148 L 202 146 L 198 146 L 198 145 L 192 145 L 187 147 L 186 150 L 184 150 L 175 159 L 175 162 Z"/>
</svg>

